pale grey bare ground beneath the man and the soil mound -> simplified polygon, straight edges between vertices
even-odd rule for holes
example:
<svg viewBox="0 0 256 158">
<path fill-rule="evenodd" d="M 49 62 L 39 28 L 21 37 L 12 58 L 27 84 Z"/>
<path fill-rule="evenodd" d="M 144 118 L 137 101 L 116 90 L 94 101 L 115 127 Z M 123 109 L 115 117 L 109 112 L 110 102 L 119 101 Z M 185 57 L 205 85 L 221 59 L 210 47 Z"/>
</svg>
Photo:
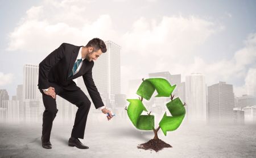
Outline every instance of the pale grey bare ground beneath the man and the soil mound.
<svg viewBox="0 0 256 158">
<path fill-rule="evenodd" d="M 90 116 L 92 117 L 92 115 Z M 72 122 L 53 122 L 52 149 L 41 145 L 42 123 L 1 124 L 1 157 L 256 157 L 256 126 L 181 126 L 159 138 L 173 148 L 155 152 L 137 145 L 154 137 L 152 131 L 137 130 L 129 119 L 90 119 L 85 138 L 89 149 L 68 147 Z"/>
</svg>

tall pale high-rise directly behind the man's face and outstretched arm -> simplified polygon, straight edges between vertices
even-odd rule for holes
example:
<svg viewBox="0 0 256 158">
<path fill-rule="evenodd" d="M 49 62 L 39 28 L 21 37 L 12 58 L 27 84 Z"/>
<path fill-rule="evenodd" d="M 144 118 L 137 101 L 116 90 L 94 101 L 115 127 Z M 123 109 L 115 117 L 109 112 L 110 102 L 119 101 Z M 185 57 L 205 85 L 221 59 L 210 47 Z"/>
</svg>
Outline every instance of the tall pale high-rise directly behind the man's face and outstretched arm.
<svg viewBox="0 0 256 158">
<path fill-rule="evenodd" d="M 121 47 L 113 41 L 105 41 L 107 52 L 94 61 L 93 80 L 106 106 L 114 106 L 115 94 L 121 93 Z M 77 80 L 80 88 L 88 94 L 82 77 Z"/>
</svg>

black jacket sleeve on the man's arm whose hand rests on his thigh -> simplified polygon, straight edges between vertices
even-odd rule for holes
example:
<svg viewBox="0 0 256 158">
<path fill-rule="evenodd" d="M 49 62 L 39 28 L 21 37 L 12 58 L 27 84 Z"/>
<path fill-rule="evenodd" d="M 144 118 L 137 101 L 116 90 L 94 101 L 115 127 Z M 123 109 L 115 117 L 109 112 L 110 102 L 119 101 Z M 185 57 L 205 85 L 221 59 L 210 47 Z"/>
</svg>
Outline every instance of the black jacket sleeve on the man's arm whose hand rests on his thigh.
<svg viewBox="0 0 256 158">
<path fill-rule="evenodd" d="M 64 57 L 64 43 L 59 48 L 51 52 L 41 63 L 39 64 L 39 77 L 38 88 L 49 88 L 48 74 L 51 68 L 56 65 Z"/>
</svg>

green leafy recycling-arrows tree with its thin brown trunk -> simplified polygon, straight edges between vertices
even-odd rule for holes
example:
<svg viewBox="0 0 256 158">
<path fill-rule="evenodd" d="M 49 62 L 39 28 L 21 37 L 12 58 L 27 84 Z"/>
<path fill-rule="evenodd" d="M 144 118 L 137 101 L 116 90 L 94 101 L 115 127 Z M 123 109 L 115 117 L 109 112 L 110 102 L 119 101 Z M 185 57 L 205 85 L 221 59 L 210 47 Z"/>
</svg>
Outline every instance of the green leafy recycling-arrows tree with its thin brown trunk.
<svg viewBox="0 0 256 158">
<path fill-rule="evenodd" d="M 139 130 L 153 130 L 155 134 L 154 139 L 159 139 L 157 133 L 160 128 L 163 131 L 163 134 L 166 136 L 167 131 L 174 131 L 180 126 L 183 118 L 185 117 L 184 106 L 186 104 L 183 104 L 179 97 L 174 99 L 172 92 L 174 91 L 176 85 L 171 86 L 166 79 L 148 78 L 144 80 L 143 78 L 142 81 L 142 84 L 137 90 L 137 94 L 141 96 L 141 98 L 127 99 L 129 102 L 129 106 L 126 108 L 127 114 L 136 128 Z M 159 122 L 159 127 L 156 129 L 154 115 L 150 115 L 151 112 L 147 115 L 142 115 L 143 111 L 148 112 L 142 103 L 143 98 L 149 101 L 155 90 L 158 93 L 158 95 L 155 97 L 171 96 L 171 101 L 166 104 L 171 116 L 167 116 L 167 114 L 164 113 L 162 120 Z"/>
</svg>

